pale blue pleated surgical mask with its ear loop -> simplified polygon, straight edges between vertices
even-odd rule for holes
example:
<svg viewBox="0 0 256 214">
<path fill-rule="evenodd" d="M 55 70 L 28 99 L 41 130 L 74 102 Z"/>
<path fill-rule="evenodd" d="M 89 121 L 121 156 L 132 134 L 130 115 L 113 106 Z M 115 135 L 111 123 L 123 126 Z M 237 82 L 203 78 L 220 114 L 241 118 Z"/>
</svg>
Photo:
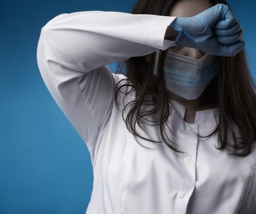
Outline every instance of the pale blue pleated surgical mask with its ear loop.
<svg viewBox="0 0 256 214">
<path fill-rule="evenodd" d="M 154 75 L 157 75 L 159 51 L 155 63 Z M 217 56 L 207 53 L 200 59 L 167 51 L 164 62 L 166 87 L 186 100 L 197 99 L 218 73 Z"/>
</svg>

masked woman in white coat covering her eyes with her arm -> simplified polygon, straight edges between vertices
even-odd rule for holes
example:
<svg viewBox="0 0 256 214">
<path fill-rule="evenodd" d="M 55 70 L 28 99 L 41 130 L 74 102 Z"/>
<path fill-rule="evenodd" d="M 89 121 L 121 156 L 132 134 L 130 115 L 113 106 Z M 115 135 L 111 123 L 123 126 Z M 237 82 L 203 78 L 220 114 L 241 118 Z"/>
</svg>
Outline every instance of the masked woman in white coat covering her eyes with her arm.
<svg viewBox="0 0 256 214">
<path fill-rule="evenodd" d="M 86 213 L 255 213 L 256 97 L 241 39 L 226 1 L 138 0 L 131 13 L 43 26 L 40 73 L 91 154 Z"/>
</svg>

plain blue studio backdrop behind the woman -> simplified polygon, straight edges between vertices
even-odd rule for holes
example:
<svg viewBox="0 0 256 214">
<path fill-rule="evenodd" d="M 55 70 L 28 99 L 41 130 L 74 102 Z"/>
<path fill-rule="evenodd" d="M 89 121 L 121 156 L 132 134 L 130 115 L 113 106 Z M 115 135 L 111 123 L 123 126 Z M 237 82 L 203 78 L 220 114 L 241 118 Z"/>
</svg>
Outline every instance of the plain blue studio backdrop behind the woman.
<svg viewBox="0 0 256 214">
<path fill-rule="evenodd" d="M 88 149 L 39 73 L 42 26 L 61 13 L 129 12 L 134 1 L 0 2 L 0 213 L 85 213 L 92 191 Z M 255 1 L 229 1 L 256 76 Z M 115 63 L 110 64 L 115 70 Z"/>
</svg>

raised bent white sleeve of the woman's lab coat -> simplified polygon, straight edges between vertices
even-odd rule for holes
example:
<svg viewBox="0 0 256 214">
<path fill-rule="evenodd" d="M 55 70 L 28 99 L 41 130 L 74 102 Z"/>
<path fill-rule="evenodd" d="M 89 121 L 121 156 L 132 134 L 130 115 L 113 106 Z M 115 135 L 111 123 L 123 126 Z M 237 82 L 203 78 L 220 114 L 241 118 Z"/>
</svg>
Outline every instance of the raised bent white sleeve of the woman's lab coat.
<svg viewBox="0 0 256 214">
<path fill-rule="evenodd" d="M 93 10 L 62 13 L 42 27 L 40 74 L 91 153 L 115 101 L 107 64 L 175 45 L 164 39 L 175 18 Z"/>
</svg>

